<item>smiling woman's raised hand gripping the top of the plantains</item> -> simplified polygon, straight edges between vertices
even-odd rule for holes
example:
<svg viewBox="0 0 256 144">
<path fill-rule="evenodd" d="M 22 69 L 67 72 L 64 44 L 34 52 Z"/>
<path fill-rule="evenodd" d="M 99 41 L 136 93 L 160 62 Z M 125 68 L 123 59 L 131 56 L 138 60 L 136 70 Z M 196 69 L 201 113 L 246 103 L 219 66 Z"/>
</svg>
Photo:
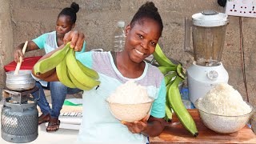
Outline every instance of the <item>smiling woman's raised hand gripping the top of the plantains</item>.
<svg viewBox="0 0 256 144">
<path fill-rule="evenodd" d="M 64 45 L 66 45 L 67 42 L 70 42 L 70 47 L 74 48 L 74 51 L 81 51 L 85 38 L 85 34 L 83 34 L 82 31 L 71 30 L 65 34 L 63 42 Z"/>
</svg>

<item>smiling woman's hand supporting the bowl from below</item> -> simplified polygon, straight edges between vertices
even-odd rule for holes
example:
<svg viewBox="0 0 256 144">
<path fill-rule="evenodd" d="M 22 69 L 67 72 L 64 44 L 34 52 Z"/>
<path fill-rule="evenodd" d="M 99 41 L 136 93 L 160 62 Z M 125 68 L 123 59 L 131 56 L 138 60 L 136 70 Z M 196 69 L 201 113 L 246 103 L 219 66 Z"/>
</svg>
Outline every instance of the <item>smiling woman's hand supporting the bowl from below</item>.
<svg viewBox="0 0 256 144">
<path fill-rule="evenodd" d="M 150 115 L 146 115 L 145 118 L 142 118 L 140 121 L 135 122 L 123 122 L 122 124 L 126 125 L 128 127 L 128 130 L 134 134 L 142 133 L 144 130 L 146 130 L 147 127 L 147 119 L 150 118 Z"/>
</svg>

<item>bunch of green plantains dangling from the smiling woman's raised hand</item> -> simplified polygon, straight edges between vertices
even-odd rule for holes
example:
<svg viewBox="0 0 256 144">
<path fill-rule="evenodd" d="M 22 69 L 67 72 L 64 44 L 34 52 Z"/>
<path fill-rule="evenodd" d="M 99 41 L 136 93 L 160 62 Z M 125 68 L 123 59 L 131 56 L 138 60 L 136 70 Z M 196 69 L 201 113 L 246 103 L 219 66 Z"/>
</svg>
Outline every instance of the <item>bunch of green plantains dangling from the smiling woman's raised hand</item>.
<svg viewBox="0 0 256 144">
<path fill-rule="evenodd" d="M 34 74 L 45 74 L 54 69 L 56 70 L 58 80 L 70 88 L 91 90 L 100 84 L 98 73 L 84 66 L 82 62 L 75 58 L 75 52 L 74 49 L 70 48 L 70 42 L 49 58 L 37 62 L 34 65 Z"/>
</svg>

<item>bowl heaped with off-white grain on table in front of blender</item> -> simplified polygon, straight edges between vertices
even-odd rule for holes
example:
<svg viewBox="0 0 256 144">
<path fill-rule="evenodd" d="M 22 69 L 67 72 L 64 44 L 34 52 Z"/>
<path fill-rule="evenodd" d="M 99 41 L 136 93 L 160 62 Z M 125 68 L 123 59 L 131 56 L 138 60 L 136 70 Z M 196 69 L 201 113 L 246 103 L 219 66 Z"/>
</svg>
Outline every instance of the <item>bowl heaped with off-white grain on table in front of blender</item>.
<svg viewBox="0 0 256 144">
<path fill-rule="evenodd" d="M 206 127 L 220 134 L 230 134 L 246 126 L 254 106 L 244 102 L 237 90 L 219 84 L 194 102 Z"/>
</svg>

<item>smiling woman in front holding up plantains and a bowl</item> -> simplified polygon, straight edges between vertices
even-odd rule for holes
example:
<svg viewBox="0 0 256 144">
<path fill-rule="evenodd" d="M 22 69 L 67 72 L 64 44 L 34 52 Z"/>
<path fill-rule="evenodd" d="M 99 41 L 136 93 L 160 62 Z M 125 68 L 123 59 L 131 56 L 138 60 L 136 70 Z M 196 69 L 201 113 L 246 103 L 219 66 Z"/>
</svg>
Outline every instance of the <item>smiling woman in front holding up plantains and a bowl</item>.
<svg viewBox="0 0 256 144">
<path fill-rule="evenodd" d="M 123 51 L 115 54 L 92 51 L 76 54 L 80 62 L 98 72 L 101 82 L 97 88 L 85 90 L 83 93 L 82 126 L 79 130 L 78 142 L 146 144 L 148 136 L 161 134 L 165 124 L 164 76 L 157 67 L 144 60 L 154 53 L 162 29 L 162 18 L 158 14 L 158 9 L 153 2 L 146 2 L 126 26 L 126 43 Z M 81 34 L 73 31 L 68 38 L 70 37 L 80 40 L 83 38 Z M 79 50 L 78 46 L 74 48 Z M 42 59 L 50 57 L 57 50 L 46 54 Z M 50 81 L 58 80 L 55 72 L 50 71 L 48 74 L 51 74 L 48 78 L 36 74 L 34 76 Z M 138 122 L 120 122 L 110 113 L 106 98 L 118 86 L 129 80 L 145 86 L 147 94 L 154 98 L 148 120 L 146 117 Z"/>
</svg>

